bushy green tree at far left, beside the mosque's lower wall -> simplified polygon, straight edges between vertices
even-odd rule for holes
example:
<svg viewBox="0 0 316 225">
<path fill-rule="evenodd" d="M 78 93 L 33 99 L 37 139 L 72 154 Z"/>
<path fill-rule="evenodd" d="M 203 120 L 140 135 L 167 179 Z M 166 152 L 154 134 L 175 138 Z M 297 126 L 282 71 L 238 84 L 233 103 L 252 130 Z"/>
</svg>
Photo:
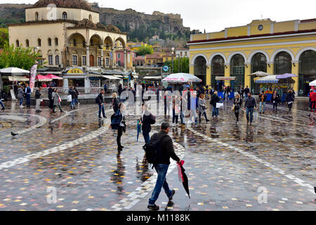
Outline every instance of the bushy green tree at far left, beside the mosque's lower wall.
<svg viewBox="0 0 316 225">
<path fill-rule="evenodd" d="M 37 63 L 39 56 L 39 53 L 33 53 L 31 47 L 25 49 L 21 46 L 15 48 L 13 44 L 6 45 L 4 51 L 0 53 L 0 68 L 14 67 L 29 70 L 32 65 Z"/>
</svg>

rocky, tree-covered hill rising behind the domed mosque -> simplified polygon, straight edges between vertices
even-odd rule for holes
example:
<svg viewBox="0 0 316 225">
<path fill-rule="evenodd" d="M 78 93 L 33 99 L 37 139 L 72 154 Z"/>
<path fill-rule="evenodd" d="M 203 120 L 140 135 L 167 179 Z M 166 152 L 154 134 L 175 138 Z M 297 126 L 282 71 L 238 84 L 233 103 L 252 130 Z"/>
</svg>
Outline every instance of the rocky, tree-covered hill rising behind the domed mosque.
<svg viewBox="0 0 316 225">
<path fill-rule="evenodd" d="M 0 4 L 0 27 L 6 23 L 22 23 L 25 20 L 25 7 L 30 4 Z M 112 24 L 123 32 L 129 33 L 129 39 L 144 41 L 154 35 L 166 39 L 187 39 L 190 27 L 183 26 L 179 14 L 164 14 L 158 11 L 152 15 L 139 13 L 133 9 L 119 11 L 114 8 L 100 8 L 98 4 L 91 4 L 94 11 L 100 12 L 100 23 Z"/>
</svg>

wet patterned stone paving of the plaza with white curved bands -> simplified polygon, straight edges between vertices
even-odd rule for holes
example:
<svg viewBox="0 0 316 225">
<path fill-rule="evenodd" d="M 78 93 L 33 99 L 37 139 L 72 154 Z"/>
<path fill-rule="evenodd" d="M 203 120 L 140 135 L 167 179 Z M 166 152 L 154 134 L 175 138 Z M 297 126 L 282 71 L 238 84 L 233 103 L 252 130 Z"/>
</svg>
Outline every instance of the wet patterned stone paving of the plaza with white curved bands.
<svg viewBox="0 0 316 225">
<path fill-rule="evenodd" d="M 235 123 L 230 104 L 218 118 L 208 106 L 211 122 L 171 128 L 191 199 L 172 162 L 167 181 L 176 195 L 168 203 L 162 191 L 161 210 L 316 210 L 316 113 L 305 110 L 308 102 L 296 103 L 291 113 L 267 105 L 251 127 L 244 112 Z M 144 161 L 143 136 L 136 141 L 136 115 L 127 117 L 118 154 L 116 131 L 108 129 L 108 118 L 98 119 L 97 105 L 53 115 L 48 108 L 36 114 L 6 107 L 0 113 L 0 210 L 147 211 L 156 176 Z M 171 119 L 157 116 L 151 134 Z"/>
</svg>

